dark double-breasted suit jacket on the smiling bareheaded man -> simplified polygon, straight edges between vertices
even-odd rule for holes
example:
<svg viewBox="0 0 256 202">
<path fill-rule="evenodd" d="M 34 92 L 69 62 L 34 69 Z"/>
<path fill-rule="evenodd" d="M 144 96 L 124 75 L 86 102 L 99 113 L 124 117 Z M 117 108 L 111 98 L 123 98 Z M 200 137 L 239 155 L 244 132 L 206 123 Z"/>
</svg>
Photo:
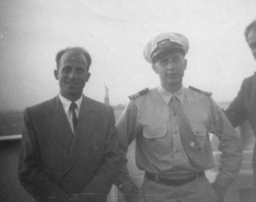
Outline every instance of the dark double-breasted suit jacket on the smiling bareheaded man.
<svg viewBox="0 0 256 202">
<path fill-rule="evenodd" d="M 23 187 L 39 201 L 78 193 L 105 201 L 118 159 L 113 108 L 83 96 L 75 135 L 58 96 L 27 108 L 24 118 L 18 166 Z"/>
</svg>

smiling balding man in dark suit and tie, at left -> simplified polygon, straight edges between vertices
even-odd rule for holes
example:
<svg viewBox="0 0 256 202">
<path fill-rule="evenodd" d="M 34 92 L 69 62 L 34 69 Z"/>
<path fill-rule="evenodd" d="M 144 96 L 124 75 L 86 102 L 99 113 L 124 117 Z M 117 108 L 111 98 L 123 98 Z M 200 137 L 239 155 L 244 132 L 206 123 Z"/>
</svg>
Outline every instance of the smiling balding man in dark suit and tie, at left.
<svg viewBox="0 0 256 202">
<path fill-rule="evenodd" d="M 19 180 L 38 201 L 106 201 L 118 159 L 113 108 L 82 93 L 86 50 L 66 48 L 56 62 L 58 96 L 25 109 Z"/>
</svg>

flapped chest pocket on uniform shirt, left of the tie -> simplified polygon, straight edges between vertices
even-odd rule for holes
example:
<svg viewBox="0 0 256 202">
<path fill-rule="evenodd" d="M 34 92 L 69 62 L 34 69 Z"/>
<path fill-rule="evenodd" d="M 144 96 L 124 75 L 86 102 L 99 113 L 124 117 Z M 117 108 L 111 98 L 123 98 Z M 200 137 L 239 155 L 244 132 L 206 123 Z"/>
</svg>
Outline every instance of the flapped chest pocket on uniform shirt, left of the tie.
<svg viewBox="0 0 256 202">
<path fill-rule="evenodd" d="M 144 126 L 143 127 L 143 137 L 150 139 L 150 138 L 162 138 L 166 135 L 167 128 L 165 125 L 160 127 L 151 127 L 151 126 Z"/>
</svg>

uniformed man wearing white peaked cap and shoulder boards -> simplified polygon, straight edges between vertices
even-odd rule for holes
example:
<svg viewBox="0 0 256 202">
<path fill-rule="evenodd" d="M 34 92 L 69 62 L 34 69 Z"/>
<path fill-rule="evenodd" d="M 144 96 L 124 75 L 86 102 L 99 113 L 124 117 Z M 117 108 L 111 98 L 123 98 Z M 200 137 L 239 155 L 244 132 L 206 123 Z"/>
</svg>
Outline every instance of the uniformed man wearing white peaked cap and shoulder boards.
<svg viewBox="0 0 256 202">
<path fill-rule="evenodd" d="M 147 43 L 144 57 L 157 73 L 160 85 L 130 96 L 130 103 L 117 122 L 123 156 L 117 183 L 126 199 L 138 193 L 129 182 L 125 155 L 136 138 L 135 158 L 145 178 L 138 201 L 222 201 L 238 175 L 242 160 L 239 135 L 211 93 L 185 88 L 189 41 L 181 34 L 167 32 Z M 210 184 L 205 170 L 214 166 L 210 134 L 219 138 L 219 172 Z M 132 197 L 134 196 L 134 197 Z"/>
</svg>

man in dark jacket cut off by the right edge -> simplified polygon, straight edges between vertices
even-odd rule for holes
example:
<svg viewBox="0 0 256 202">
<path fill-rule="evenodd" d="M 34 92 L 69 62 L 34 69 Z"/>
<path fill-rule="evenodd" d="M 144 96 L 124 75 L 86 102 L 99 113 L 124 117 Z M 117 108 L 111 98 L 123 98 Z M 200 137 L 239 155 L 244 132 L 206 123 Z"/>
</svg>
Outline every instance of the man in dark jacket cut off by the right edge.
<svg viewBox="0 0 256 202">
<path fill-rule="evenodd" d="M 256 19 L 246 27 L 245 39 L 256 59 Z M 243 80 L 237 97 L 231 102 L 225 113 L 234 127 L 241 125 L 246 120 L 249 121 L 256 137 L 256 73 Z M 256 146 L 254 146 L 253 171 L 254 188 L 256 189 Z"/>
</svg>

